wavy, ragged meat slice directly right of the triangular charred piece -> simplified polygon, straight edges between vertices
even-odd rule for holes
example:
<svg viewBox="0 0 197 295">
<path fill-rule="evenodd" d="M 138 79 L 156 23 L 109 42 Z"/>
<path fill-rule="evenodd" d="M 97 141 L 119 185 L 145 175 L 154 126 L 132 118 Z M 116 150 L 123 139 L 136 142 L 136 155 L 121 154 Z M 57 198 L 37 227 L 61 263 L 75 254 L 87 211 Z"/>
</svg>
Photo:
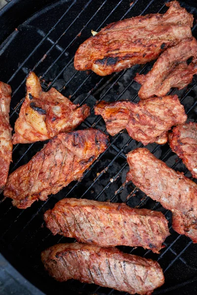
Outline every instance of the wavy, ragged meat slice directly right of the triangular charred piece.
<svg viewBox="0 0 197 295">
<path fill-rule="evenodd" d="M 165 144 L 166 131 L 187 120 L 177 95 L 141 100 L 137 104 L 131 101 L 101 101 L 95 107 L 95 114 L 102 116 L 110 135 L 127 129 L 129 135 L 143 145 L 154 142 Z"/>
</svg>

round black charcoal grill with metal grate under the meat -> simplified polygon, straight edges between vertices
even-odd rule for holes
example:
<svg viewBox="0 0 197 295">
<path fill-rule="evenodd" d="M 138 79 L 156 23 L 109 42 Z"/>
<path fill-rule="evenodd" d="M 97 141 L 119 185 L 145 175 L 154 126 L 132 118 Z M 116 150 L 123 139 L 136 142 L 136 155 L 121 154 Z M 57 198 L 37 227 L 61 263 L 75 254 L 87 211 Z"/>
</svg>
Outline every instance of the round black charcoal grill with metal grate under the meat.
<svg viewBox="0 0 197 295">
<path fill-rule="evenodd" d="M 9 0 L 7 0 L 9 2 Z M 91 107 L 91 116 L 79 127 L 98 128 L 106 133 L 103 119 L 94 115 L 93 106 L 98 100 L 129 99 L 137 102 L 140 86 L 133 78 L 137 72 L 146 73 L 153 63 L 135 65 L 119 73 L 100 77 L 91 71 L 79 72 L 73 67 L 78 46 L 91 35 L 111 22 L 139 14 L 164 13 L 166 0 L 12 0 L 0 12 L 0 81 L 12 87 L 10 123 L 18 117 L 25 96 L 25 81 L 30 70 L 40 77 L 42 87 L 58 89 L 63 95 L 80 105 Z M 193 35 L 197 37 L 197 3 L 180 1 L 195 17 Z M 197 119 L 197 78 L 177 93 L 185 107 L 188 119 Z M 43 147 L 43 142 L 15 145 L 10 172 L 27 163 Z M 110 137 L 110 146 L 99 156 L 81 182 L 73 181 L 47 201 L 35 202 L 30 208 L 13 207 L 10 199 L 0 195 L 0 251 L 5 258 L 30 282 L 48 294 L 98 294 L 118 295 L 118 291 L 70 280 L 58 283 L 50 278 L 40 261 L 45 248 L 74 239 L 52 236 L 43 222 L 44 212 L 61 199 L 69 197 L 98 201 L 125 202 L 131 207 L 162 211 L 169 221 L 171 236 L 165 248 L 154 254 L 143 248 L 118 247 L 145 258 L 157 260 L 164 269 L 165 284 L 156 294 L 197 294 L 197 245 L 181 236 L 171 227 L 171 213 L 160 203 L 151 200 L 131 182 L 126 183 L 129 166 L 126 154 L 143 147 L 131 139 L 126 131 Z M 169 167 L 184 172 L 193 179 L 182 161 L 167 144 L 149 144 L 147 148 Z M 189 290 L 188 290 L 189 289 Z M 187 293 L 186 293 L 186 290 Z"/>
</svg>

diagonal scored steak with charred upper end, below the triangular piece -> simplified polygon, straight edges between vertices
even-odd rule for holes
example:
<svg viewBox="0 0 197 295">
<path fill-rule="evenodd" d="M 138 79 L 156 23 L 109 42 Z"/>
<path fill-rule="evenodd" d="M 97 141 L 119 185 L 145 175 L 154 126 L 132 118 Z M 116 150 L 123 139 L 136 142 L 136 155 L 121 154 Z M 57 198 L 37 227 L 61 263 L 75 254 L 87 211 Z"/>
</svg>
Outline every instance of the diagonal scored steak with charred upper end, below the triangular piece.
<svg viewBox="0 0 197 295">
<path fill-rule="evenodd" d="M 97 129 L 61 133 L 9 175 L 4 196 L 22 209 L 39 199 L 44 201 L 79 180 L 107 145 L 108 137 Z"/>
</svg>

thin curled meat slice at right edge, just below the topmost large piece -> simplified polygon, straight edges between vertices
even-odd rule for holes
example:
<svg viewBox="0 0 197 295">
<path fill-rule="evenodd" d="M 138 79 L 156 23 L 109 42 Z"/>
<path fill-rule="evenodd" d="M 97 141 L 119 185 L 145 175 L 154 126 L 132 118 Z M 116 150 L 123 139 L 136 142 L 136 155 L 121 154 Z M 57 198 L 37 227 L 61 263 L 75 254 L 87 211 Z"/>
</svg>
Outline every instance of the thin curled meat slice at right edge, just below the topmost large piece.
<svg viewBox="0 0 197 295">
<path fill-rule="evenodd" d="M 188 65 L 186 61 L 191 57 L 194 57 L 193 62 Z M 168 48 L 147 75 L 137 74 L 134 80 L 142 85 L 139 97 L 147 99 L 154 95 L 164 96 L 172 87 L 183 89 L 196 73 L 197 40 L 192 37 Z"/>
</svg>

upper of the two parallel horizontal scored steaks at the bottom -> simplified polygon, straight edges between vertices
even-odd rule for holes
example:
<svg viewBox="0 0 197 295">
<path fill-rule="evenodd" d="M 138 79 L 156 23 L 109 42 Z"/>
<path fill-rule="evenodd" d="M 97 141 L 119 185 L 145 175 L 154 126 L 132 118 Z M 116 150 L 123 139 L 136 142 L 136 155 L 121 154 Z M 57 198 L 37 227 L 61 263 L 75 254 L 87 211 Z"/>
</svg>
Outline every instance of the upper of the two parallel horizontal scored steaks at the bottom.
<svg viewBox="0 0 197 295">
<path fill-rule="evenodd" d="M 159 253 L 169 236 L 161 212 L 133 209 L 126 204 L 63 199 L 45 212 L 44 220 L 54 235 L 101 247 L 141 246 Z"/>
</svg>

